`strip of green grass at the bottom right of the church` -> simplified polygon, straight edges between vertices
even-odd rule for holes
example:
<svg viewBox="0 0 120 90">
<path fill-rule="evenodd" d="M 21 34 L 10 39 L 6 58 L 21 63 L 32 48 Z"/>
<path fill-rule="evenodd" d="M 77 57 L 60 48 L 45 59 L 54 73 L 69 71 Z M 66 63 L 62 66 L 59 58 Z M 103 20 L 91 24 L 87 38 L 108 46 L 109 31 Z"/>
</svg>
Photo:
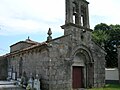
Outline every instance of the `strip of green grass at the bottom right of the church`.
<svg viewBox="0 0 120 90">
<path fill-rule="evenodd" d="M 89 90 L 120 90 L 120 85 L 115 85 L 115 84 L 107 84 L 103 88 L 93 88 Z"/>
</svg>

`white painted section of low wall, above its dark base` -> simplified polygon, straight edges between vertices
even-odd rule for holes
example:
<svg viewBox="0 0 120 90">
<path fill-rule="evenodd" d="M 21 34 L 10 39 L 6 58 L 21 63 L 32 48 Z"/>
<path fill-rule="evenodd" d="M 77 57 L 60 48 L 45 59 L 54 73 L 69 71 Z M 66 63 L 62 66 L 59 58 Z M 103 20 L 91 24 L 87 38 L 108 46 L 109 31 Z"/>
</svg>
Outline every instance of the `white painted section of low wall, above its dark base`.
<svg viewBox="0 0 120 90">
<path fill-rule="evenodd" d="M 105 80 L 119 80 L 118 68 L 106 68 Z"/>
</svg>

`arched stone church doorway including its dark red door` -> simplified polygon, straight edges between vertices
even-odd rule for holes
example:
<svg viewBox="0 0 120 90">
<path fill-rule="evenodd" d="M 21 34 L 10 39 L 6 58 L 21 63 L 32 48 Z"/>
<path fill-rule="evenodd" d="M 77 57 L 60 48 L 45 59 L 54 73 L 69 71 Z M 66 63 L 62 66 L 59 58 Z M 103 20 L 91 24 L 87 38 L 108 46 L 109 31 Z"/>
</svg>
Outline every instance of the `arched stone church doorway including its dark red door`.
<svg viewBox="0 0 120 90">
<path fill-rule="evenodd" d="M 84 49 L 78 49 L 74 53 L 72 65 L 72 87 L 87 88 L 93 86 L 94 65 L 91 60 L 90 52 Z"/>
</svg>

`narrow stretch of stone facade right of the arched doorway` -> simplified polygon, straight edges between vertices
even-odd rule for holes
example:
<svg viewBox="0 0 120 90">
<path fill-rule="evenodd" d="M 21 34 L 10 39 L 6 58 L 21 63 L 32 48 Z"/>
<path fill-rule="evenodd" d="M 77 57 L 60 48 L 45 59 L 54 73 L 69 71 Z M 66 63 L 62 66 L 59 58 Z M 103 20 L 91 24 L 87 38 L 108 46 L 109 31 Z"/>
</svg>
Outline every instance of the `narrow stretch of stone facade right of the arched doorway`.
<svg viewBox="0 0 120 90">
<path fill-rule="evenodd" d="M 94 59 L 94 87 L 105 85 L 105 51 L 96 45 L 91 44 L 91 51 Z"/>
</svg>

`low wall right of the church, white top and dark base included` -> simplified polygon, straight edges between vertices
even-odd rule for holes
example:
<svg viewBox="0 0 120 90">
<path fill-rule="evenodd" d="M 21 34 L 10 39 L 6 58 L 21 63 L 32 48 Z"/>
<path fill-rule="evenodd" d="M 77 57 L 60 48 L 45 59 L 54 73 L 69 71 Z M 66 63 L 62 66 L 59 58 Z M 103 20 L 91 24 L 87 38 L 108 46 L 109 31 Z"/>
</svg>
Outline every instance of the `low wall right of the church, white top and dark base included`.
<svg viewBox="0 0 120 90">
<path fill-rule="evenodd" d="M 106 84 L 118 84 L 119 83 L 118 68 L 106 68 L 105 81 L 106 81 Z"/>
</svg>

